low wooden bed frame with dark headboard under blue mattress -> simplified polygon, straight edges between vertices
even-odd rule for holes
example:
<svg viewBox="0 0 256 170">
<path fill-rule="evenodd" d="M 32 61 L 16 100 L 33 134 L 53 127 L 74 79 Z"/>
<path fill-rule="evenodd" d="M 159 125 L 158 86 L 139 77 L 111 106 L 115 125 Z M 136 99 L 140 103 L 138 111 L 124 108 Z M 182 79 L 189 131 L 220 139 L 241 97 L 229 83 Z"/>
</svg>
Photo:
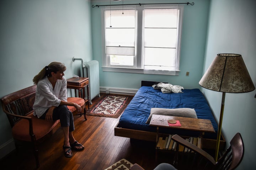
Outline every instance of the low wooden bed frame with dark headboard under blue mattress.
<svg viewBox="0 0 256 170">
<path fill-rule="evenodd" d="M 142 81 L 142 86 L 152 86 L 153 84 L 158 84 L 159 82 L 152 81 Z M 166 82 L 165 82 L 166 83 Z M 139 139 L 144 141 L 156 141 L 156 132 L 148 132 L 148 131 L 140 131 L 133 130 L 128 128 L 122 128 L 119 123 L 114 128 L 114 136 L 126 137 L 131 139 Z M 204 149 L 215 149 L 216 147 L 216 139 L 207 139 L 203 138 L 203 146 Z M 224 150 L 226 145 L 225 138 L 223 134 L 221 135 L 219 149 Z"/>
</svg>

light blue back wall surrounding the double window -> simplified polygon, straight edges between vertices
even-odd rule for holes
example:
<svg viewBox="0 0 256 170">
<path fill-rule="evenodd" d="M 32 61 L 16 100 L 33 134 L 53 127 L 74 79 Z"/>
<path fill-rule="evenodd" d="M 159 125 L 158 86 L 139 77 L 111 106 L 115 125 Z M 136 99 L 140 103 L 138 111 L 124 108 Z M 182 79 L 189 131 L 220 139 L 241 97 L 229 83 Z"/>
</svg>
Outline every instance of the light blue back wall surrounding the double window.
<svg viewBox="0 0 256 170">
<path fill-rule="evenodd" d="M 125 4 L 174 3 L 177 0 L 129 0 Z M 185 5 L 183 13 L 181 64 L 179 76 L 146 75 L 137 73 L 103 72 L 100 68 L 100 86 L 138 89 L 141 80 L 165 81 L 184 88 L 199 88 L 202 76 L 206 31 L 208 23 L 209 0 L 194 0 L 194 6 Z M 106 5 L 109 1 L 92 1 L 92 5 Z M 111 4 L 122 4 L 113 2 Z M 91 9 L 93 57 L 102 66 L 101 7 Z M 186 71 L 190 76 L 186 76 Z"/>
</svg>

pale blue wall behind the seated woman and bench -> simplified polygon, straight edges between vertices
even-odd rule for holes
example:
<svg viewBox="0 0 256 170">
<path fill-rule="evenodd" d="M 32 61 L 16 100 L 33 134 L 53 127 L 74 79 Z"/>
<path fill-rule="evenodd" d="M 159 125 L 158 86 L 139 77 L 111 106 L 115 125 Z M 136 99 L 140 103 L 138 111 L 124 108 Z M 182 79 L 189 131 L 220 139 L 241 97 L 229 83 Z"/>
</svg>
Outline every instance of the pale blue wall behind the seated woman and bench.
<svg viewBox="0 0 256 170">
<path fill-rule="evenodd" d="M 92 60 L 90 10 L 88 0 L 1 0 L 0 98 L 32 86 L 52 61 L 66 65 L 66 78 L 80 75 L 81 62 L 72 58 Z M 11 127 L 2 108 L 0 136 L 0 149 L 10 148 Z"/>
</svg>

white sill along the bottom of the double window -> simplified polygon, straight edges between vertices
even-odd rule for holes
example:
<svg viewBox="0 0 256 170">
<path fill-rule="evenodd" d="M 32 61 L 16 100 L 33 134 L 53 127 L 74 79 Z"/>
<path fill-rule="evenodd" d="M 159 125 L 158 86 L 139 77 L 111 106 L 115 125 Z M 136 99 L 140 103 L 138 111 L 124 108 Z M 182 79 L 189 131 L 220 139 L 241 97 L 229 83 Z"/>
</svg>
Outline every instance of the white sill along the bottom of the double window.
<svg viewBox="0 0 256 170">
<path fill-rule="evenodd" d="M 102 71 L 108 72 L 123 72 L 123 73 L 140 73 L 140 74 L 156 74 L 156 75 L 171 75 L 178 76 L 180 71 L 172 71 L 169 74 L 165 73 L 145 73 L 143 68 L 126 68 L 126 67 L 102 67 Z"/>
</svg>

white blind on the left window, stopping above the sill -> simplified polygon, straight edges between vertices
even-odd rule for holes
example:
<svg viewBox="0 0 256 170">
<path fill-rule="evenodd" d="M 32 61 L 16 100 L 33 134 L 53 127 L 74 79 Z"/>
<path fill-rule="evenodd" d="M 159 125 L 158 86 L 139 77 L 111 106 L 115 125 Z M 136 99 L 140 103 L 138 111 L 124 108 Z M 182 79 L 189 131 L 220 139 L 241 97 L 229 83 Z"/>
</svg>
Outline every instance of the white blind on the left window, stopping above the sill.
<svg viewBox="0 0 256 170">
<path fill-rule="evenodd" d="M 107 10 L 106 54 L 135 55 L 135 10 Z"/>
</svg>

